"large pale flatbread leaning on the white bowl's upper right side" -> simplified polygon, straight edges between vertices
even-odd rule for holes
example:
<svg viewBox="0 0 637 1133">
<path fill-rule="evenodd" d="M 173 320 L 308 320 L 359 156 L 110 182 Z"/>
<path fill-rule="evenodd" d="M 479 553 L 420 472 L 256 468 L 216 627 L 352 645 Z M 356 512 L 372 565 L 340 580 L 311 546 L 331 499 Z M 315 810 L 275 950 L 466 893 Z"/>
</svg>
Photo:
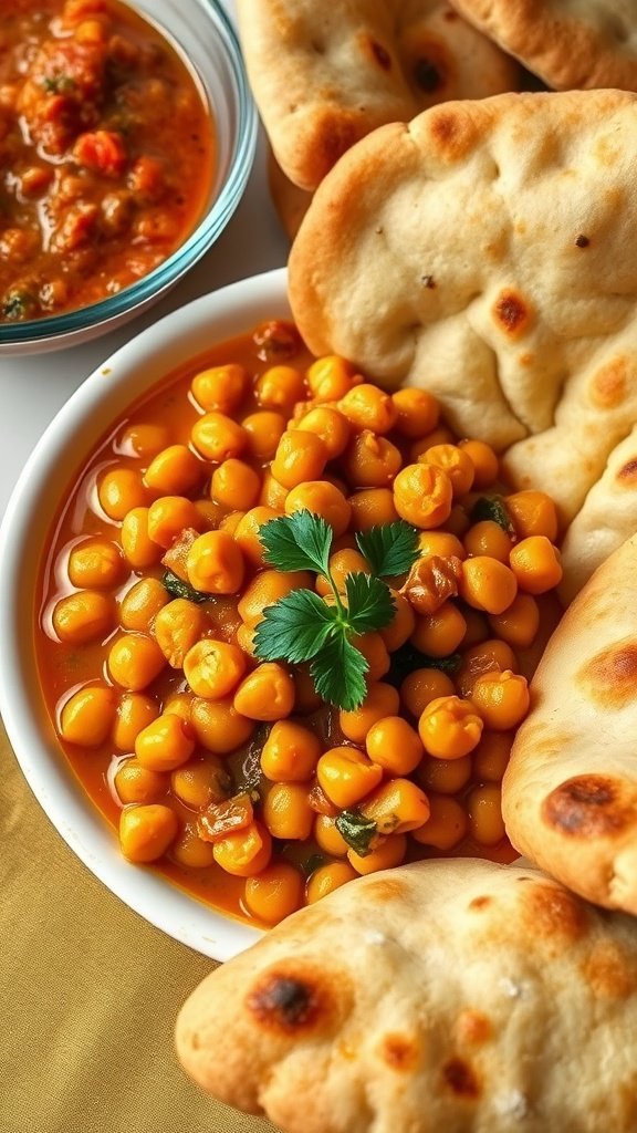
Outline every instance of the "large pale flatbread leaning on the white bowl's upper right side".
<svg viewBox="0 0 637 1133">
<path fill-rule="evenodd" d="M 325 178 L 290 301 L 314 353 L 430 389 L 566 526 L 637 421 L 636 246 L 637 95 L 452 102 Z"/>
</svg>

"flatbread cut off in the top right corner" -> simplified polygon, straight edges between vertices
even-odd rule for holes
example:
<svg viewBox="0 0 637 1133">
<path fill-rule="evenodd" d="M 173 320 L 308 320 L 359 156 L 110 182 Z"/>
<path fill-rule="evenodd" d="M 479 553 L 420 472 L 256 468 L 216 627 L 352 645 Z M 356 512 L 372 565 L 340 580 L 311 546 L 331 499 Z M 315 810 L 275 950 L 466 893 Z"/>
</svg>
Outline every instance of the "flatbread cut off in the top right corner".
<svg viewBox="0 0 637 1133">
<path fill-rule="evenodd" d="M 635 0 L 451 0 L 557 91 L 637 91 Z"/>
</svg>

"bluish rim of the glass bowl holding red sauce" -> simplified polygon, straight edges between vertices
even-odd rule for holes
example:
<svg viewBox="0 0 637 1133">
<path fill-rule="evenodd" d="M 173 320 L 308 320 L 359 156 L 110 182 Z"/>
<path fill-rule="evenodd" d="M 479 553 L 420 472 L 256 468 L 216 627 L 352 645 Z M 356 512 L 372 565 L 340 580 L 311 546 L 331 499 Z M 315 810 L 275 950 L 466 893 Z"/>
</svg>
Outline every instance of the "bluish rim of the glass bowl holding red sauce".
<svg viewBox="0 0 637 1133">
<path fill-rule="evenodd" d="M 176 283 L 187 269 L 201 259 L 226 228 L 241 199 L 250 174 L 256 151 L 258 118 L 233 25 L 218 0 L 203 0 L 203 2 L 219 23 L 218 31 L 227 49 L 237 94 L 237 134 L 228 162 L 228 176 L 212 207 L 186 242 L 137 283 L 131 283 L 117 295 L 109 296 L 108 299 L 102 299 L 90 307 L 79 307 L 63 315 L 32 318 L 12 326 L 5 323 L 0 326 L 0 346 L 10 342 L 35 342 L 52 335 L 68 334 L 70 331 L 87 330 L 118 315 L 133 314 L 136 307 L 151 299 L 158 291 L 161 292 L 169 284 Z"/>
</svg>

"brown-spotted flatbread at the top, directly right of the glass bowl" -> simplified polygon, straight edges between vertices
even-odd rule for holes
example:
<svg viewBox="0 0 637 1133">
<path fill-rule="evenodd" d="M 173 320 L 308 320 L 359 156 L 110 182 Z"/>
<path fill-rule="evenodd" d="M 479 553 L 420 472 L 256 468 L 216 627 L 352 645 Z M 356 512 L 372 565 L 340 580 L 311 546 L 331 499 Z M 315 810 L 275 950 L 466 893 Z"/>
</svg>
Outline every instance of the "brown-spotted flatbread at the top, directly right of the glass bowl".
<svg viewBox="0 0 637 1133">
<path fill-rule="evenodd" d="M 237 0 L 237 15 L 265 131 L 304 189 L 376 126 L 521 79 L 447 0 Z"/>
</svg>

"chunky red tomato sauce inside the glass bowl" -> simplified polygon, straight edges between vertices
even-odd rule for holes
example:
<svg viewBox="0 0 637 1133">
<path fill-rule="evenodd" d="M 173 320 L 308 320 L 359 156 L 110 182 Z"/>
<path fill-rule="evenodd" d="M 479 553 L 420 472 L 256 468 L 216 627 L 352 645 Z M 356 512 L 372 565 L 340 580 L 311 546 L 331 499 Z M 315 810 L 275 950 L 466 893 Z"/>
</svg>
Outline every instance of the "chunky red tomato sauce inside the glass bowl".
<svg viewBox="0 0 637 1133">
<path fill-rule="evenodd" d="M 186 63 L 119 0 L 0 17 L 0 324 L 105 299 L 161 264 L 211 191 L 214 125 Z"/>
</svg>

